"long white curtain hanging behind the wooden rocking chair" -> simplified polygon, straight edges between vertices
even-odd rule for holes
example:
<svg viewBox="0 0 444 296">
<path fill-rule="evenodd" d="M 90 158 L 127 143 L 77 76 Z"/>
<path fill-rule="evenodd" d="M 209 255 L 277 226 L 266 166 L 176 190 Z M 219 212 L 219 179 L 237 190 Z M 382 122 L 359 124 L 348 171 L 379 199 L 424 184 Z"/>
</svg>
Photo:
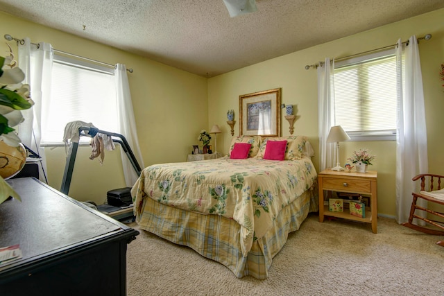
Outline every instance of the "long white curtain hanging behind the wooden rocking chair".
<svg viewBox="0 0 444 296">
<path fill-rule="evenodd" d="M 413 182 L 411 179 L 420 173 L 428 173 L 429 171 L 421 64 L 418 40 L 415 36 L 411 36 L 408 46 L 404 46 L 404 83 L 402 79 L 402 54 L 402 42 L 398 40 L 396 49 L 398 71 L 396 220 L 398 223 L 407 222 L 409 219 L 411 193 L 419 189 L 418 182 Z M 427 204 L 422 200 L 418 204 L 427 207 Z M 420 223 L 423 224 L 422 221 Z"/>
</svg>

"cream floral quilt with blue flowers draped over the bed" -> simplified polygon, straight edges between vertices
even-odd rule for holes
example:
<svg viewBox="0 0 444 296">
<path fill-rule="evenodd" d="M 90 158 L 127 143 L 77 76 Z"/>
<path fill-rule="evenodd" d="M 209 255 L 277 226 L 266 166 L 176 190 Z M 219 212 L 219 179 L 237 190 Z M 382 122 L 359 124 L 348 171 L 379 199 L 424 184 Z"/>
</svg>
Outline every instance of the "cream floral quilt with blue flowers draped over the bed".
<svg viewBox="0 0 444 296">
<path fill-rule="evenodd" d="M 316 182 L 309 158 L 273 161 L 222 157 L 200 162 L 155 164 L 142 171 L 131 191 L 135 214 L 145 198 L 201 214 L 235 220 L 244 256 L 272 227 L 281 209 Z"/>
</svg>

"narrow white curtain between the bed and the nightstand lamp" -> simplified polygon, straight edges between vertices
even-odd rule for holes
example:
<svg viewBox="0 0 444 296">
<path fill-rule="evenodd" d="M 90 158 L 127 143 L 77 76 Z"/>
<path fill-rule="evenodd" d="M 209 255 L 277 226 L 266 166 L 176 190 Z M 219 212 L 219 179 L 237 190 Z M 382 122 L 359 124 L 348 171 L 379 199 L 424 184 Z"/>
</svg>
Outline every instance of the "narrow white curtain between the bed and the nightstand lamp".
<svg viewBox="0 0 444 296">
<path fill-rule="evenodd" d="M 334 144 L 327 143 L 328 133 L 334 125 L 334 60 L 325 58 L 318 71 L 318 135 L 319 170 L 334 166 Z"/>
</svg>

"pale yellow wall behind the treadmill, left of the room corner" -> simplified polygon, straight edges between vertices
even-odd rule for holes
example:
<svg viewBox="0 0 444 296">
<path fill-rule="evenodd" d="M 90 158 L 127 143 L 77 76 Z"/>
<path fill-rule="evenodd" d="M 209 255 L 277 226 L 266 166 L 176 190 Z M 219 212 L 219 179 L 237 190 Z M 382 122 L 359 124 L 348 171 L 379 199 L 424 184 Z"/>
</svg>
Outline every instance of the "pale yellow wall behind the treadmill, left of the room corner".
<svg viewBox="0 0 444 296">
<path fill-rule="evenodd" d="M 185 162 L 191 146 L 198 142 L 200 130 L 208 128 L 207 78 L 0 12 L 1 38 L 5 34 L 30 37 L 31 42 L 48 42 L 60 51 L 133 68 L 134 73 L 128 73 L 128 80 L 146 166 Z M 17 53 L 15 42 L 8 44 Z M 0 49 L 8 51 L 4 43 Z M 94 123 L 94 119 L 90 121 Z M 90 152 L 89 147 L 79 149 L 69 195 L 77 200 L 102 204 L 107 191 L 125 186 L 120 154 L 118 150 L 106 152 L 105 162 L 100 166 L 97 159 L 88 159 Z M 65 170 L 65 147 L 46 148 L 46 157 L 49 184 L 60 189 Z"/>
</svg>

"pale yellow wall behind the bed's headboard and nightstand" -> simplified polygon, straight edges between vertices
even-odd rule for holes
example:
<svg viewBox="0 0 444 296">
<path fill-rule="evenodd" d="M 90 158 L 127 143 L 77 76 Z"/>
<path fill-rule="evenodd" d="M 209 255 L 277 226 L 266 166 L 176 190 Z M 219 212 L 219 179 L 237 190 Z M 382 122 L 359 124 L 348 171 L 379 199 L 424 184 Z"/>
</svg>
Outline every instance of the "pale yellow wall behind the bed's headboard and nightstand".
<svg viewBox="0 0 444 296">
<path fill-rule="evenodd" d="M 399 21 L 349 37 L 334 40 L 297 51 L 280 58 L 268 60 L 250 67 L 232 71 L 208 81 L 208 110 L 212 123 L 225 128 L 219 136 L 219 150 L 228 152 L 231 135 L 225 123 L 226 112 L 234 109 L 235 134 L 239 134 L 239 95 L 282 87 L 282 103 L 295 105 L 300 116 L 294 124 L 294 134 L 304 134 L 318 152 L 318 114 L 316 70 L 305 70 L 305 65 L 340 58 L 355 53 L 395 44 L 398 38 L 407 40 L 411 35 L 421 37 L 432 34 L 429 41 L 420 42 L 420 59 L 424 83 L 425 112 L 429 171 L 444 174 L 444 146 L 441 128 L 444 126 L 444 87 L 438 76 L 444 62 L 444 10 Z M 282 134 L 289 135 L 289 124 L 282 116 Z M 341 143 L 341 164 L 352 151 L 368 148 L 377 159 L 371 170 L 378 172 L 378 213 L 395 216 L 395 141 L 349 141 Z M 314 157 L 318 168 L 318 156 Z M 413 177 L 413 176 L 412 176 Z"/>
</svg>

